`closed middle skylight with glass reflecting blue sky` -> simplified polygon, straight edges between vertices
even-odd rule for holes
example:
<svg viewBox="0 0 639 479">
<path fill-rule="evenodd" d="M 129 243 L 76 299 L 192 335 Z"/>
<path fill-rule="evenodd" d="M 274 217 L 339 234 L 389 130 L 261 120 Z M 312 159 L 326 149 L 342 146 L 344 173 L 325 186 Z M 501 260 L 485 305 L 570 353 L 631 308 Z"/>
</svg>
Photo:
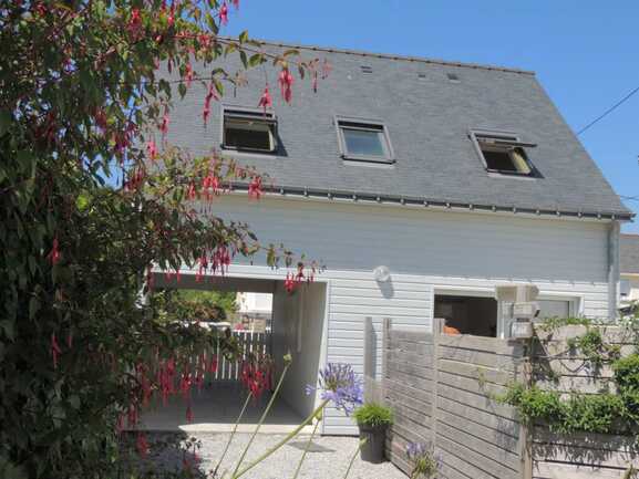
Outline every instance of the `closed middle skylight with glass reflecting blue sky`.
<svg viewBox="0 0 639 479">
<path fill-rule="evenodd" d="M 342 157 L 364 162 L 391 163 L 387 129 L 381 123 L 338 119 Z"/>
</svg>

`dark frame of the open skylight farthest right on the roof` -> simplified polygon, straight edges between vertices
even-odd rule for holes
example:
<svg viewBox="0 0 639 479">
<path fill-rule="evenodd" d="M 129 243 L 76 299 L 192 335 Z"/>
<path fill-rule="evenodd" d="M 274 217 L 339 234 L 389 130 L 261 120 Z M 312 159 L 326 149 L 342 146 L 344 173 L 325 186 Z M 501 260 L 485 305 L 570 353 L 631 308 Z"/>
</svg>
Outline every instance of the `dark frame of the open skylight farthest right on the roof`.
<svg viewBox="0 0 639 479">
<path fill-rule="evenodd" d="M 524 178 L 534 178 L 537 175 L 537 173 L 536 173 L 537 170 L 535 168 L 535 165 L 533 165 L 533 163 L 530 162 L 530 158 L 528 157 L 528 153 L 526 152 L 526 148 L 535 148 L 537 146 L 535 143 L 522 142 L 519 135 L 517 135 L 516 133 L 513 133 L 513 132 L 496 132 L 496 131 L 488 131 L 488 129 L 475 129 L 475 128 L 473 128 L 468 132 L 468 137 L 471 138 L 471 142 L 473 143 L 473 146 L 475 148 L 477 156 L 480 157 L 480 159 L 482 160 L 482 164 L 484 165 L 484 169 L 488 174 L 495 174 L 495 175 L 499 175 L 499 176 L 515 176 L 515 177 L 524 177 Z M 493 139 L 494 143 L 482 142 L 480 138 Z M 511 162 L 513 162 L 513 165 L 515 166 L 515 168 L 516 168 L 516 164 L 515 164 L 515 160 L 513 159 L 512 150 L 515 148 L 521 149 L 523 153 L 522 157 L 523 157 L 524 162 L 526 163 L 526 166 L 528 167 L 528 171 L 519 171 L 519 170 L 511 171 L 511 170 L 505 170 L 505 169 L 491 168 L 488 166 L 488 162 L 486 162 L 486 157 L 484 156 L 484 150 L 482 149 L 482 143 L 489 145 L 491 147 L 495 148 L 496 150 L 501 149 L 501 147 L 503 149 L 505 149 L 508 157 L 511 158 Z"/>
</svg>

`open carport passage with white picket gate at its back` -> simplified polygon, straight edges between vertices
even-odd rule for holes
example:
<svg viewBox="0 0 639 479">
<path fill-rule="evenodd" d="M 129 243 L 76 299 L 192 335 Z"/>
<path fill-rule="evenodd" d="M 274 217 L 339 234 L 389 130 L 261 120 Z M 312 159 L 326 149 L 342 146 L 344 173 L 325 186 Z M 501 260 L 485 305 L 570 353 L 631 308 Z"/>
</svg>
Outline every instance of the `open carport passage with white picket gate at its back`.
<svg viewBox="0 0 639 479">
<path fill-rule="evenodd" d="M 317 397 L 307 395 L 306 386 L 316 384 L 320 367 L 324 283 L 300 284 L 292 294 L 286 291 L 284 281 L 272 279 L 215 277 L 196 282 L 194 275 L 182 274 L 176 283 L 157 274 L 155 284 L 157 289 L 181 290 L 181 294 L 193 298 L 200 293 L 234 299 L 233 311 L 226 309 L 225 314 L 217 315 L 206 327 L 228 329 L 244 344 L 246 354 L 257 352 L 270 356 L 274 387 L 284 369 L 285 354 L 292 356 L 278 398 L 266 418 L 264 433 L 288 433 L 315 409 Z M 230 430 L 247 396 L 240 381 L 241 365 L 241 361 L 219 358 L 217 372 L 205 379 L 202 391 L 193 391 L 193 423 L 187 423 L 185 417 L 187 399 L 177 395 L 166 406 L 145 414 L 143 427 L 150 430 Z M 259 400 L 249 404 L 238 430 L 255 428 L 270 397 L 271 392 L 266 392 Z"/>
</svg>

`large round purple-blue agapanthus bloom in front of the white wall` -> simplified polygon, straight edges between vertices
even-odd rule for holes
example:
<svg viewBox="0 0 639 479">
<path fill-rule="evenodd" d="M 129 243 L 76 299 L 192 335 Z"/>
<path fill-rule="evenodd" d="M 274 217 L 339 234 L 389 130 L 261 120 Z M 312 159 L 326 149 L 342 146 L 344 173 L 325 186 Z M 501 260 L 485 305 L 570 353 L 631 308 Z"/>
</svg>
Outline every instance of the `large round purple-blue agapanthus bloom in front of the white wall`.
<svg viewBox="0 0 639 479">
<path fill-rule="evenodd" d="M 350 364 L 329 363 L 320 371 L 319 387 L 306 387 L 306 393 L 321 392 L 321 398 L 334 404 L 338 409 L 351 414 L 357 406 L 363 404 L 362 379 L 358 377 Z"/>
</svg>

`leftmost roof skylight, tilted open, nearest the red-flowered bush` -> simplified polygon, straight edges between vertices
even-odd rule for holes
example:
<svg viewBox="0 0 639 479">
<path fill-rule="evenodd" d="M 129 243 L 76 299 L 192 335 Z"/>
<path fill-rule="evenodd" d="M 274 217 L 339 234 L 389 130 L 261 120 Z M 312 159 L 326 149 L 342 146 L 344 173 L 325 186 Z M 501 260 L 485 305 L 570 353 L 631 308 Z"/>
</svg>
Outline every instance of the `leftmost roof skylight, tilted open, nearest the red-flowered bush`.
<svg viewBox="0 0 639 479">
<path fill-rule="evenodd" d="M 276 126 L 277 122 L 271 113 L 225 110 L 223 147 L 274 153 L 277 149 Z"/>
</svg>

